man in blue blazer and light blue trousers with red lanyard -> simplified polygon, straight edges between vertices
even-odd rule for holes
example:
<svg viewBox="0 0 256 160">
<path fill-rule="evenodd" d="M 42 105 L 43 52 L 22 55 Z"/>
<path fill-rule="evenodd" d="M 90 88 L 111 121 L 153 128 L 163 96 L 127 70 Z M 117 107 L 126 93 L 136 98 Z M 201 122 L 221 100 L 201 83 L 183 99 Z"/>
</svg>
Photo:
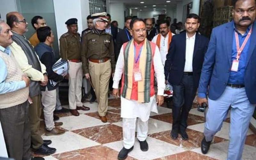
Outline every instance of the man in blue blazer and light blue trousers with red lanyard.
<svg viewBox="0 0 256 160">
<path fill-rule="evenodd" d="M 242 159 L 256 105 L 255 0 L 234 1 L 233 21 L 213 28 L 202 68 L 197 103 L 209 109 L 201 150 L 206 154 L 231 106 L 228 160 Z M 209 89 L 208 89 L 209 85 Z"/>
</svg>

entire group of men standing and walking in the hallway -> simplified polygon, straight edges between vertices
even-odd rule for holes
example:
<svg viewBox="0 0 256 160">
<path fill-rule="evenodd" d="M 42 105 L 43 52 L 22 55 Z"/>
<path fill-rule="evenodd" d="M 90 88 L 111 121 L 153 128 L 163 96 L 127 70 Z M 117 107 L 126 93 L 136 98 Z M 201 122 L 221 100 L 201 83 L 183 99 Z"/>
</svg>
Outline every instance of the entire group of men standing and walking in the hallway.
<svg viewBox="0 0 256 160">
<path fill-rule="evenodd" d="M 108 121 L 109 90 L 116 98 L 121 96 L 124 147 L 118 159 L 125 159 L 133 149 L 137 118 L 140 149 L 148 151 L 149 115 L 158 113 L 169 83 L 173 87 L 171 138 L 176 140 L 180 134 L 182 140 L 189 139 L 188 113 L 198 89 L 197 103 L 209 105 L 202 153 L 207 154 L 231 108 L 228 160 L 240 160 L 256 105 L 255 17 L 255 0 L 234 1 L 233 20 L 214 28 L 210 41 L 198 32 L 200 17 L 193 13 L 187 16 L 184 31 L 177 20 L 170 25 L 170 17 L 155 23 L 154 18 L 128 16 L 120 29 L 102 12 L 87 17 L 88 28 L 80 35 L 77 19 L 71 18 L 65 22 L 68 32 L 60 37 L 60 57 L 68 61 L 68 74 L 57 74 L 52 70 L 54 33 L 44 18 L 31 20 L 36 32 L 28 40 L 25 18 L 19 12 L 8 13 L 6 23 L 0 20 L 0 122 L 8 156 L 35 160 L 44 158 L 33 157 L 30 149 L 40 155 L 56 151 L 48 147 L 52 141 L 40 135 L 41 108 L 45 135 L 65 133 L 56 127 L 63 123 L 55 122 L 59 117 L 53 113 L 79 116 L 77 110 L 90 110 L 81 101 L 85 77 L 92 85 L 90 103 L 97 100 L 102 122 Z M 58 83 L 63 79 L 68 79 L 69 109 L 60 104 Z M 170 99 L 166 101 L 170 107 Z"/>
</svg>

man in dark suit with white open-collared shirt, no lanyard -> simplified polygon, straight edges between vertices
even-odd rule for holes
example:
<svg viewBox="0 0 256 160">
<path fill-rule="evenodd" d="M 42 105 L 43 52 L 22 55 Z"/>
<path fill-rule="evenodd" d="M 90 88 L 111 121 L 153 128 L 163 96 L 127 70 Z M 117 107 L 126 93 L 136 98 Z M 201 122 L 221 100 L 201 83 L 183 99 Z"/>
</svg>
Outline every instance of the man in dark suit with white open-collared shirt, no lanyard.
<svg viewBox="0 0 256 160">
<path fill-rule="evenodd" d="M 196 96 L 204 54 L 208 47 L 208 38 L 196 33 L 200 17 L 189 14 L 185 28 L 172 37 L 170 49 L 164 65 L 165 80 L 173 87 L 172 139 L 180 133 L 183 140 L 188 140 L 186 133 L 188 113 Z"/>
</svg>

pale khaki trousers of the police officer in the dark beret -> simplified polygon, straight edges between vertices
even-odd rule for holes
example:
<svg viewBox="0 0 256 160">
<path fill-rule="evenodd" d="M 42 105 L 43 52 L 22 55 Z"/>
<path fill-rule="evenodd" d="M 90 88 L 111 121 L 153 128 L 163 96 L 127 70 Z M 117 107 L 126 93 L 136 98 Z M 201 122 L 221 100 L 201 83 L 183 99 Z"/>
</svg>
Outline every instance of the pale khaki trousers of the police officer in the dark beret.
<svg viewBox="0 0 256 160">
<path fill-rule="evenodd" d="M 68 103 L 69 109 L 76 109 L 76 106 L 83 106 L 82 99 L 82 62 L 68 62 Z"/>
</svg>

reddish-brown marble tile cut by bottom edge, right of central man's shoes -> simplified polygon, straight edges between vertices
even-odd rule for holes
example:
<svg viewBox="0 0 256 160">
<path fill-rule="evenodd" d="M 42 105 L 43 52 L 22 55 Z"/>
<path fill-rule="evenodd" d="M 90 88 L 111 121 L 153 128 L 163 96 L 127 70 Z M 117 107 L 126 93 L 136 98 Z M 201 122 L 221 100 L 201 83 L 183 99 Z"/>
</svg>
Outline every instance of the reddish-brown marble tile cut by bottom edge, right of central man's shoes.
<svg viewBox="0 0 256 160">
<path fill-rule="evenodd" d="M 199 153 L 193 152 L 193 151 L 185 151 L 185 152 L 181 152 L 181 153 L 177 153 L 174 155 L 170 155 L 170 156 L 165 156 L 165 157 L 161 157 L 161 158 L 157 158 L 155 160 L 188 160 L 188 159 L 192 159 L 192 160 L 216 160 L 215 158 L 211 158 L 205 155 L 201 155 Z"/>
</svg>

